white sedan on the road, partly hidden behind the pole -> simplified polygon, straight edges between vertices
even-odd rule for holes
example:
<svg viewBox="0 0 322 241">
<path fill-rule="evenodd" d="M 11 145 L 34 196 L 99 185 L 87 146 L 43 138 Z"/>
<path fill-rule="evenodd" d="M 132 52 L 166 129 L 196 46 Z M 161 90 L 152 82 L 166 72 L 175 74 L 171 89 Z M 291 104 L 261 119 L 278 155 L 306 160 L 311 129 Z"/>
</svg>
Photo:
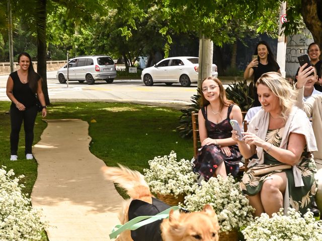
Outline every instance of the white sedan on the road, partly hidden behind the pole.
<svg viewBox="0 0 322 241">
<path fill-rule="evenodd" d="M 154 66 L 142 70 L 141 80 L 147 86 L 153 83 L 180 83 L 190 86 L 198 82 L 198 57 L 170 57 L 159 61 Z M 218 76 L 217 66 L 212 64 L 211 75 Z"/>
</svg>

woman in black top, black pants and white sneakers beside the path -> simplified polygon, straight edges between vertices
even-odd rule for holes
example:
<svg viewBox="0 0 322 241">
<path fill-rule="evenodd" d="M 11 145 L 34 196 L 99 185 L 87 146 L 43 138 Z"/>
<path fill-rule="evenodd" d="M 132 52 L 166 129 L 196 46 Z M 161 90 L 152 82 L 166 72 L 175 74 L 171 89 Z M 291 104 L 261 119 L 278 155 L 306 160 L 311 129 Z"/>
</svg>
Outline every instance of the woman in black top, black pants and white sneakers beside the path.
<svg viewBox="0 0 322 241">
<path fill-rule="evenodd" d="M 12 72 L 7 81 L 7 95 L 12 101 L 10 106 L 11 118 L 11 161 L 17 161 L 19 133 L 22 122 L 25 130 L 26 159 L 33 159 L 32 143 L 34 140 L 34 125 L 37 116 L 37 97 L 42 105 L 42 117 L 47 115 L 45 97 L 41 87 L 41 77 L 33 68 L 31 57 L 28 53 L 18 56 L 20 69 Z"/>
</svg>

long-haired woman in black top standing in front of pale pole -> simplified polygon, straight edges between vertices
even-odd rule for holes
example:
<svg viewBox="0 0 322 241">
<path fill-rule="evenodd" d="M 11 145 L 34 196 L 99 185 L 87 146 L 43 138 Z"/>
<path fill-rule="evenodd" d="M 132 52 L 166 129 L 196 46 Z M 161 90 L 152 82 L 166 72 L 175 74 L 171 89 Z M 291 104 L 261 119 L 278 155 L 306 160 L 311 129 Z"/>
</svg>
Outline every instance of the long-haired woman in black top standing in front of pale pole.
<svg viewBox="0 0 322 241">
<path fill-rule="evenodd" d="M 247 65 L 244 78 L 251 79 L 254 81 L 254 104 L 253 106 L 261 106 L 260 101 L 258 100 L 256 82 L 261 77 L 262 74 L 267 72 L 278 72 L 280 71 L 280 66 L 275 60 L 274 54 L 272 53 L 271 48 L 265 41 L 260 41 L 255 49 L 255 55 L 258 57 L 253 59 L 249 65 Z"/>
</svg>

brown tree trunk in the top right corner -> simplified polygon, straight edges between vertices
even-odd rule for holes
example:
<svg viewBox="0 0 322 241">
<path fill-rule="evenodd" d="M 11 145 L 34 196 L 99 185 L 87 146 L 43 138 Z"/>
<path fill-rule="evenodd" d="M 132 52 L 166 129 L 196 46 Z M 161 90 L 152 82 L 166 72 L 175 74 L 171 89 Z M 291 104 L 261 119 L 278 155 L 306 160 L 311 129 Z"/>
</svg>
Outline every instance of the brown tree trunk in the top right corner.
<svg viewBox="0 0 322 241">
<path fill-rule="evenodd" d="M 302 0 L 301 15 L 314 42 L 322 46 L 322 0 Z"/>
</svg>

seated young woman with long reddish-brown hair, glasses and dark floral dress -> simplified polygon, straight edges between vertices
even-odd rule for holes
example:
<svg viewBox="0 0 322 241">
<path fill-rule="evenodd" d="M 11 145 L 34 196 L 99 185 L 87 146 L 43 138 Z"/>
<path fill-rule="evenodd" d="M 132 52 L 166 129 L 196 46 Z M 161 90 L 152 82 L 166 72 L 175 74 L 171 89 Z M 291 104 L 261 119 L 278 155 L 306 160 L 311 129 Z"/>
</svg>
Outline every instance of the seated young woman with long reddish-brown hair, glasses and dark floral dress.
<svg viewBox="0 0 322 241">
<path fill-rule="evenodd" d="M 198 152 L 194 170 L 205 180 L 217 175 L 226 178 L 229 173 L 236 176 L 242 156 L 236 141 L 231 139 L 229 121 L 235 119 L 241 127 L 243 115 L 239 106 L 226 98 L 219 79 L 205 78 L 201 86 L 202 107 L 198 123 L 202 149 Z"/>
</svg>

